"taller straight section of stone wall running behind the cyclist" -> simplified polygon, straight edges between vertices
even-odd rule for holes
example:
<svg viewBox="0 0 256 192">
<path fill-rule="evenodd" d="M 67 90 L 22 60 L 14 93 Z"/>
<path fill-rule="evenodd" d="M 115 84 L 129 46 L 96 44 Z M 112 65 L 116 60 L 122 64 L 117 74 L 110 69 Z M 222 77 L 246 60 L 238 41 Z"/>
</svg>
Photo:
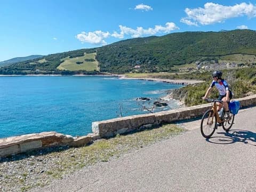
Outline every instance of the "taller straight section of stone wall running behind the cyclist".
<svg viewBox="0 0 256 192">
<path fill-rule="evenodd" d="M 256 105 L 256 95 L 235 99 L 241 107 Z M 134 115 L 128 117 L 114 118 L 107 121 L 92 123 L 92 131 L 102 138 L 113 137 L 116 134 L 131 132 L 143 129 L 145 126 L 157 125 L 160 123 L 171 123 L 183 119 L 190 119 L 202 116 L 207 109 L 211 108 L 211 103 L 161 111 L 153 114 Z"/>
</svg>

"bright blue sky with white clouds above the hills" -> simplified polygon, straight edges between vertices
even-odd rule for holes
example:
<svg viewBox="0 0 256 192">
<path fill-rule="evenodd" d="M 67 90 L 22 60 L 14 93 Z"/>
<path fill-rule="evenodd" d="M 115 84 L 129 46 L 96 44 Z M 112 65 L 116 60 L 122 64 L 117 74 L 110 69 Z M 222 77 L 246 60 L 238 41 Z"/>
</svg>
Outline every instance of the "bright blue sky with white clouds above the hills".
<svg viewBox="0 0 256 192">
<path fill-rule="evenodd" d="M 256 30 L 256 0 L 1 0 L 0 61 L 221 29 Z"/>
</svg>

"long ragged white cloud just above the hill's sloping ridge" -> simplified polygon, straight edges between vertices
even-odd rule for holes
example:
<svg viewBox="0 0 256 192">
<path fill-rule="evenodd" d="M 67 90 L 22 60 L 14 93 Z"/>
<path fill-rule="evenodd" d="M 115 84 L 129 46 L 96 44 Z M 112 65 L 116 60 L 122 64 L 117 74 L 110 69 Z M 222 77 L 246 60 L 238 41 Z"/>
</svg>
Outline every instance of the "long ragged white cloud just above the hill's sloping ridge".
<svg viewBox="0 0 256 192">
<path fill-rule="evenodd" d="M 121 32 L 118 34 L 116 31 L 111 35 L 116 38 L 124 38 L 124 35 L 131 35 L 132 37 L 142 37 L 145 35 L 155 35 L 157 33 L 170 33 L 172 30 L 179 29 L 173 22 L 167 22 L 165 26 L 156 25 L 155 28 L 143 29 L 137 27 L 132 29 L 130 27 L 119 25 Z"/>
</svg>

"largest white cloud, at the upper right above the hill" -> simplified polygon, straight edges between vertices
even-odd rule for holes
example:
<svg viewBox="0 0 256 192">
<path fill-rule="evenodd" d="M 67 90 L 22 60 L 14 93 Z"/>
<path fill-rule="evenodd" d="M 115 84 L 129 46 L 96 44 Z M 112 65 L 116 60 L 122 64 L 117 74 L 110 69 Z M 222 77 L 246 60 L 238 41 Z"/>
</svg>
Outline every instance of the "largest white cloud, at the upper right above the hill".
<svg viewBox="0 0 256 192">
<path fill-rule="evenodd" d="M 256 6 L 251 3 L 241 3 L 234 6 L 205 3 L 204 8 L 186 8 L 185 12 L 188 17 L 182 18 L 180 22 L 186 23 L 187 25 L 198 25 L 198 23 L 201 25 L 210 25 L 245 15 L 249 18 L 256 17 Z"/>
</svg>

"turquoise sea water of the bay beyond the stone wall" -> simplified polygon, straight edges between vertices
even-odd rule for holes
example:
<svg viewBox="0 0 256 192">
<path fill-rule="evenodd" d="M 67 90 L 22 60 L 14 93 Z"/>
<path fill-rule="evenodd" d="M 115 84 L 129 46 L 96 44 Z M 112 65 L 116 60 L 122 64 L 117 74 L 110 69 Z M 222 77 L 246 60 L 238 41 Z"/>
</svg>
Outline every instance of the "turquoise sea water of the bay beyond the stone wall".
<svg viewBox="0 0 256 192">
<path fill-rule="evenodd" d="M 0 77 L 0 138 L 44 131 L 86 135 L 92 122 L 119 117 L 120 108 L 123 116 L 148 113 L 141 106 L 149 108 L 177 87 L 104 76 Z M 151 100 L 139 102 L 139 97 Z"/>
</svg>

